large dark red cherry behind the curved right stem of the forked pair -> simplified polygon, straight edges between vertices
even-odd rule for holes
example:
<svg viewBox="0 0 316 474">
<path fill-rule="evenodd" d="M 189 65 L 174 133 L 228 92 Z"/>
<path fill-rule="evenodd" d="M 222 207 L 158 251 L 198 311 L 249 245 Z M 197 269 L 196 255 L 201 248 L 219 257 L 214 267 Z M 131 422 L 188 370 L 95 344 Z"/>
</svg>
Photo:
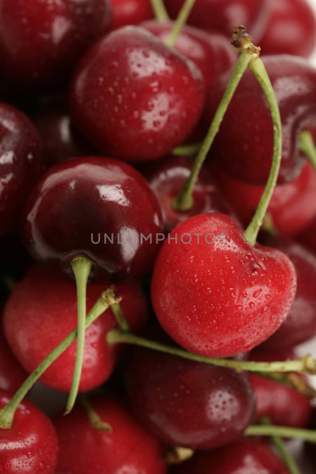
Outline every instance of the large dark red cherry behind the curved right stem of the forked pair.
<svg viewBox="0 0 316 474">
<path fill-rule="evenodd" d="M 262 58 L 279 103 L 283 151 L 279 183 L 296 179 L 306 163 L 299 152 L 299 135 L 315 132 L 316 69 L 293 56 Z M 210 123 L 232 71 L 209 89 L 206 120 Z M 241 126 L 242 124 L 242 126 Z M 271 113 L 260 84 L 248 69 L 227 109 L 210 155 L 236 179 L 265 185 L 271 168 L 273 129 Z"/>
</svg>

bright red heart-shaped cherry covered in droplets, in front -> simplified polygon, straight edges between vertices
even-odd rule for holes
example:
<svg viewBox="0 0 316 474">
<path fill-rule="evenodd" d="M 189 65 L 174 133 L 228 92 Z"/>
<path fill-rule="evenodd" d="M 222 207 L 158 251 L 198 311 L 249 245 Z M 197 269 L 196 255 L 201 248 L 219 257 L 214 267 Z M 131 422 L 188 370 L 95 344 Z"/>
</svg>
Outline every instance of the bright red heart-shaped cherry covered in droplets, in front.
<svg viewBox="0 0 316 474">
<path fill-rule="evenodd" d="M 169 336 L 190 352 L 247 352 L 289 312 L 296 290 L 289 257 L 251 246 L 242 232 L 229 216 L 200 214 L 179 224 L 158 254 L 153 309 Z"/>
</svg>

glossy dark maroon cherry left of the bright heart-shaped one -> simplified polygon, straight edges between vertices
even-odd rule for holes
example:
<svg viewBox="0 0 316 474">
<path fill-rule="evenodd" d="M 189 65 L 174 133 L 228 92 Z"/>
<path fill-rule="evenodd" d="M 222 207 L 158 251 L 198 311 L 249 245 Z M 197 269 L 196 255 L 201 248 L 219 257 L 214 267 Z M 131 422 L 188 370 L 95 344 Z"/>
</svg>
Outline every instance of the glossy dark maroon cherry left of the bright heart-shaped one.
<svg viewBox="0 0 316 474">
<path fill-rule="evenodd" d="M 162 226 L 159 204 L 138 171 L 90 156 L 45 173 L 27 201 L 21 228 L 37 260 L 69 267 L 73 257 L 84 255 L 119 279 L 149 272 Z M 152 241 L 145 240 L 149 235 Z"/>
</svg>

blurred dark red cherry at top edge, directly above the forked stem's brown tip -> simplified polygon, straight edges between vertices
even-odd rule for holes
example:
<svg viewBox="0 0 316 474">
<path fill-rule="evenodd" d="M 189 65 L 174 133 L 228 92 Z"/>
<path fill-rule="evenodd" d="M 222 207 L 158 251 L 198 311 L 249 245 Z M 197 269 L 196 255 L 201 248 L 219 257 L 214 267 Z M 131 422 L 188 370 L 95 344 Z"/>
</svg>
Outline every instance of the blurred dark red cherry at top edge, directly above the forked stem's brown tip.
<svg viewBox="0 0 316 474">
<path fill-rule="evenodd" d="M 172 18 L 177 18 L 183 0 L 165 0 Z M 246 25 L 255 41 L 266 28 L 269 1 L 267 0 L 196 0 L 188 23 L 199 28 L 232 36 L 236 25 Z"/>
</svg>

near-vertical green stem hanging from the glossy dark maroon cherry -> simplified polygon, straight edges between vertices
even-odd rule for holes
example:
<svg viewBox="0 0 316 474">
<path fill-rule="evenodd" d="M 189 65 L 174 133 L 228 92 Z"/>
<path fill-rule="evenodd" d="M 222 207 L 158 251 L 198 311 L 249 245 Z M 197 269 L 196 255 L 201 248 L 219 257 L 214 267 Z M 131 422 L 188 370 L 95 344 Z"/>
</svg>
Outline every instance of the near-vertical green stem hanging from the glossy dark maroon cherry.
<svg viewBox="0 0 316 474">
<path fill-rule="evenodd" d="M 72 375 L 72 386 L 69 392 L 65 414 L 70 413 L 73 405 L 76 401 L 76 397 L 79 390 L 82 364 L 83 364 L 83 353 L 84 353 L 84 340 L 85 340 L 85 320 L 87 312 L 87 283 L 91 271 L 91 262 L 84 257 L 76 257 L 71 262 L 72 271 L 75 276 L 77 285 L 77 310 L 78 310 L 78 321 L 77 321 L 77 351 L 76 359 L 73 368 Z"/>
</svg>

